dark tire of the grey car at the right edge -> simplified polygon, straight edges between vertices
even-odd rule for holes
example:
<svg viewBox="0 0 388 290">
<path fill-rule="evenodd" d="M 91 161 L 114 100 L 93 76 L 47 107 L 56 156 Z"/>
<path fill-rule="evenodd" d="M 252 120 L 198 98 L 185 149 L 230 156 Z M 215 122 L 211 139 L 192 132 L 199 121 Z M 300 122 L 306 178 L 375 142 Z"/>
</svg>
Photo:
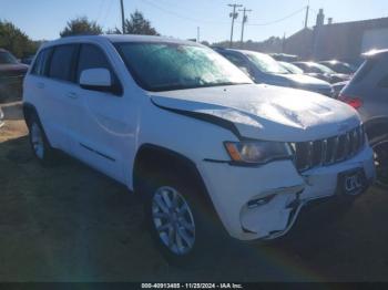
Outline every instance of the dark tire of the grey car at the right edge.
<svg viewBox="0 0 388 290">
<path fill-rule="evenodd" d="M 376 185 L 388 189 L 388 134 L 372 137 L 369 143 L 375 153 Z"/>
</svg>

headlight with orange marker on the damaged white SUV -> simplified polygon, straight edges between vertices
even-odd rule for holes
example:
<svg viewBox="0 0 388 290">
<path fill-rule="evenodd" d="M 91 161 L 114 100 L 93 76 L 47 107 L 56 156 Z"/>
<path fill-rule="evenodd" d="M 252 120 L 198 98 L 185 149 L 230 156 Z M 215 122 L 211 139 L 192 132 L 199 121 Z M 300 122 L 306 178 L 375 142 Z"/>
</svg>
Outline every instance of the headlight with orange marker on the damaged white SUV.
<svg viewBox="0 0 388 290">
<path fill-rule="evenodd" d="M 289 145 L 282 142 L 225 142 L 225 148 L 233 162 L 242 164 L 265 164 L 293 157 Z"/>
</svg>

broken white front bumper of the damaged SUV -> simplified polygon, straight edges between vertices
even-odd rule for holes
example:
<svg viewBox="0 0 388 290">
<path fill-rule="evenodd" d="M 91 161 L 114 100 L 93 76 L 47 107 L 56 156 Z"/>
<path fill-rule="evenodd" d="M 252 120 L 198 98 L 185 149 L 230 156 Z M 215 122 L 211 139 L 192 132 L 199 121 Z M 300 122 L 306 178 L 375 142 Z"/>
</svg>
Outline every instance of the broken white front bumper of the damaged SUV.
<svg viewBox="0 0 388 290">
<path fill-rule="evenodd" d="M 375 178 L 368 146 L 351 159 L 303 175 L 290 160 L 255 168 L 204 162 L 198 168 L 221 221 L 239 240 L 285 235 L 304 205 L 336 194 L 338 174 L 343 172 L 364 168 L 369 183 Z"/>
</svg>

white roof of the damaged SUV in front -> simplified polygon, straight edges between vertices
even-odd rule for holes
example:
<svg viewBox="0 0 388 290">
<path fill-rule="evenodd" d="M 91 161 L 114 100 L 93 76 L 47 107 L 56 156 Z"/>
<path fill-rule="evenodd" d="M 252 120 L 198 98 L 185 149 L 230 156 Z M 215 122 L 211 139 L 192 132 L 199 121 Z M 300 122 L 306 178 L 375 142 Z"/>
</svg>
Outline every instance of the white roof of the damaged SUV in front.
<svg viewBox="0 0 388 290">
<path fill-rule="evenodd" d="M 43 46 L 51 46 L 55 44 L 73 43 L 79 41 L 110 41 L 112 43 L 118 42 L 155 42 L 155 43 L 177 43 L 177 44 L 190 44 L 190 45 L 202 45 L 196 42 L 178 40 L 166 37 L 154 37 L 154 35 L 134 35 L 134 34 L 103 34 L 103 35 L 74 35 L 65 37 L 54 41 L 49 41 Z"/>
</svg>

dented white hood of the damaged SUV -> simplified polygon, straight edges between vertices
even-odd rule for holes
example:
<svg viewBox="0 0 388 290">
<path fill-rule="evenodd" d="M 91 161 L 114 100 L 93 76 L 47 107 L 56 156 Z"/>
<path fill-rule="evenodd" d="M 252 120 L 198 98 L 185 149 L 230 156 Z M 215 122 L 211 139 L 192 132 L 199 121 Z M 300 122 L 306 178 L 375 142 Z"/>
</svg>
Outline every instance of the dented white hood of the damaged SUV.
<svg viewBox="0 0 388 290">
<path fill-rule="evenodd" d="M 232 85 L 150 93 L 167 110 L 228 121 L 246 138 L 305 142 L 343 134 L 360 124 L 347 104 L 302 90 Z"/>
</svg>

